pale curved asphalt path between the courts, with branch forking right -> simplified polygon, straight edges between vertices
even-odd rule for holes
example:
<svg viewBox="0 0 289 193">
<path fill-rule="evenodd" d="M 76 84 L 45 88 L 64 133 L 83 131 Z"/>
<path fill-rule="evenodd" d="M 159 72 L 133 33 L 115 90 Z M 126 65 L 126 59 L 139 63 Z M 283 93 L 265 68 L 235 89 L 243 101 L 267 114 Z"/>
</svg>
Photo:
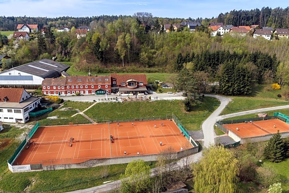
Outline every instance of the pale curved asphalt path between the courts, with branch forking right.
<svg viewBox="0 0 289 193">
<path fill-rule="evenodd" d="M 209 117 L 208 119 L 206 119 L 204 121 L 204 123 L 202 124 L 202 129 L 204 132 L 204 146 L 205 147 L 209 147 L 210 144 L 214 144 L 215 143 L 215 132 L 214 132 L 214 124 L 216 123 L 216 121 L 221 120 L 221 119 L 226 119 L 226 118 L 230 118 L 230 117 L 236 117 L 239 115 L 247 115 L 247 114 L 252 114 L 252 113 L 257 113 L 257 112 L 261 112 L 261 111 L 271 111 L 271 110 L 278 110 L 278 109 L 286 109 L 289 108 L 289 105 L 285 105 L 285 106 L 279 106 L 279 107 L 268 107 L 268 108 L 262 108 L 262 109 L 255 109 L 255 110 L 250 110 L 250 111 L 242 111 L 242 112 L 238 112 L 238 113 L 231 113 L 228 115 L 220 115 L 221 111 L 226 107 L 226 105 L 231 101 L 230 98 L 228 97 L 223 97 L 223 96 L 219 96 L 219 95 L 214 95 L 214 94 L 205 94 L 205 96 L 210 96 L 210 97 L 215 97 L 216 99 L 220 100 L 220 106 L 216 109 L 216 111 L 214 111 Z M 202 156 L 202 153 L 196 153 L 194 155 L 190 155 L 190 159 L 192 160 L 192 162 L 196 163 Z M 177 167 L 183 167 L 183 162 L 182 160 L 177 162 Z M 152 169 L 154 170 L 154 168 Z M 77 190 L 77 191 L 72 191 L 69 193 L 96 193 L 96 192 L 107 192 L 107 191 L 111 191 L 114 190 L 116 188 L 118 188 L 121 184 L 121 180 L 116 180 L 113 182 L 109 182 L 106 184 L 102 184 L 100 186 L 96 186 L 96 187 L 92 187 L 92 188 L 87 188 L 87 189 L 83 189 L 83 190 Z"/>
</svg>

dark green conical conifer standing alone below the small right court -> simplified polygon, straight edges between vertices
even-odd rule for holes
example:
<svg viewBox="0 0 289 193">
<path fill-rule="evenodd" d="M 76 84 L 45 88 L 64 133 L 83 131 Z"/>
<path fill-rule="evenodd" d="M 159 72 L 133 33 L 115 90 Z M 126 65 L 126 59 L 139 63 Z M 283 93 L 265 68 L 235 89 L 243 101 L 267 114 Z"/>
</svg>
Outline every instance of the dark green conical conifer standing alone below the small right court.
<svg viewBox="0 0 289 193">
<path fill-rule="evenodd" d="M 266 144 L 266 147 L 264 149 L 265 158 L 270 160 L 271 162 L 281 162 L 286 155 L 284 147 L 284 142 L 281 139 L 281 135 L 278 130 L 277 133 L 274 134 L 270 138 L 269 142 Z"/>
</svg>

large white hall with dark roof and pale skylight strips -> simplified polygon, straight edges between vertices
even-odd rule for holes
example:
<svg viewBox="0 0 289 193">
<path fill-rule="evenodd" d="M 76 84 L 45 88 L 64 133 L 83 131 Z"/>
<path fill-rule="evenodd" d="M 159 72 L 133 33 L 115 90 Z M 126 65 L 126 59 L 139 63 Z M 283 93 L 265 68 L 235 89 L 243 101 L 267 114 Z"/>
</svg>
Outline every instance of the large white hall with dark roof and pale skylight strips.
<svg viewBox="0 0 289 193">
<path fill-rule="evenodd" d="M 70 66 L 42 59 L 0 72 L 0 87 L 37 89 L 45 78 L 58 78 Z"/>
</svg>

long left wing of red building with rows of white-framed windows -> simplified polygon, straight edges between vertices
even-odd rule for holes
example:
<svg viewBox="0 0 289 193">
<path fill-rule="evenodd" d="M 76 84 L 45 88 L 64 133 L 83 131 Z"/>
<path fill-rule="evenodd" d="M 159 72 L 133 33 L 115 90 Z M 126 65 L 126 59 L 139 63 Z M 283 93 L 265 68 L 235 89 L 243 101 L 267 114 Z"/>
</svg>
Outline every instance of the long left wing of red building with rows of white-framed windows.
<svg viewBox="0 0 289 193">
<path fill-rule="evenodd" d="M 42 81 L 42 93 L 46 95 L 109 94 L 111 82 L 109 75 L 66 76 L 66 78 L 46 78 Z"/>
</svg>

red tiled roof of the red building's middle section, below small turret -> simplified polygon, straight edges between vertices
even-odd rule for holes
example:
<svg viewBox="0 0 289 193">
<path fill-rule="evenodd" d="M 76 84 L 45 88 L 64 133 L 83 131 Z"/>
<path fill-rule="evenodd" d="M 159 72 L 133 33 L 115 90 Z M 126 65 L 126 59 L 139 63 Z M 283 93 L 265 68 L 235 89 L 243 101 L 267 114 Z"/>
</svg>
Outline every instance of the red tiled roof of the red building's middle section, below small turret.
<svg viewBox="0 0 289 193">
<path fill-rule="evenodd" d="M 105 78 L 108 79 L 105 81 Z M 69 81 L 71 79 L 71 81 Z M 88 81 L 87 81 L 88 79 Z M 101 79 L 99 81 L 99 79 Z M 110 85 L 110 76 L 109 75 L 101 75 L 101 76 L 67 76 L 65 78 L 66 85 Z"/>
</svg>

